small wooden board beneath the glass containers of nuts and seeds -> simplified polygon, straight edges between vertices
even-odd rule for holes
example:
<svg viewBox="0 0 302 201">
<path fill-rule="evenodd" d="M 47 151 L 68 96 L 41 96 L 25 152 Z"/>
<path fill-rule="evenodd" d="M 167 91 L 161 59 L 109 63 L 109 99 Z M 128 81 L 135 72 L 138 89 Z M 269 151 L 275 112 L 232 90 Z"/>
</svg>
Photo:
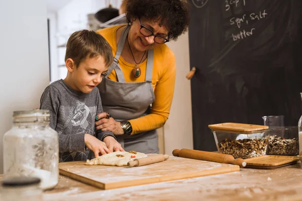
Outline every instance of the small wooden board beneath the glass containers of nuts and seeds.
<svg viewBox="0 0 302 201">
<path fill-rule="evenodd" d="M 248 168 L 275 169 L 286 165 L 291 165 L 299 160 L 297 156 L 275 156 L 264 155 L 255 158 L 245 159 Z"/>
</svg>

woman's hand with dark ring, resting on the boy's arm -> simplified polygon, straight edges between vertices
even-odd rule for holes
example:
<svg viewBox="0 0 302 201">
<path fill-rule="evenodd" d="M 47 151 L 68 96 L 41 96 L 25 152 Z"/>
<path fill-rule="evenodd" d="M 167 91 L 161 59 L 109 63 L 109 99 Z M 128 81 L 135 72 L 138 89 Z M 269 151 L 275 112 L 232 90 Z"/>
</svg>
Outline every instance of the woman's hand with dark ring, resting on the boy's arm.
<svg viewBox="0 0 302 201">
<path fill-rule="evenodd" d="M 124 130 L 120 122 L 116 122 L 112 117 L 107 119 L 107 113 L 100 113 L 96 116 L 96 130 L 111 131 L 114 135 L 123 135 Z"/>
</svg>

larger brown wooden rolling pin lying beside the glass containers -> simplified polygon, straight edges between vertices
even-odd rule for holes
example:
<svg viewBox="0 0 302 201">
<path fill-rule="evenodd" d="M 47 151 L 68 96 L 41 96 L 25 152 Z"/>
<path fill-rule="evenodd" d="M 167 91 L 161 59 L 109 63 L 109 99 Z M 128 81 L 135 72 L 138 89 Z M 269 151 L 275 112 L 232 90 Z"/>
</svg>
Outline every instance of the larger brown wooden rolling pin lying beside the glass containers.
<svg viewBox="0 0 302 201">
<path fill-rule="evenodd" d="M 198 151 L 192 149 L 174 149 L 172 152 L 173 156 L 179 156 L 182 158 L 191 158 L 197 160 L 206 160 L 217 163 L 229 163 L 233 165 L 239 165 L 245 167 L 247 163 L 242 158 L 234 158 L 230 154 L 221 154 L 208 151 Z"/>
</svg>

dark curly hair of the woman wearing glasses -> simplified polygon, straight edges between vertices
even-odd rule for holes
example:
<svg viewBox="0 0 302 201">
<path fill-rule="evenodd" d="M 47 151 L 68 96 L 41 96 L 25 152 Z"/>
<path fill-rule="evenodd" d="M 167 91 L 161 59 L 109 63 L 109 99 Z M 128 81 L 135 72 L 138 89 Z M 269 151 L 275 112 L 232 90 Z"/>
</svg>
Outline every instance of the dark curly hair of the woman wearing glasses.
<svg viewBox="0 0 302 201">
<path fill-rule="evenodd" d="M 170 40 L 176 40 L 189 26 L 189 5 L 185 0 L 129 0 L 126 6 L 126 18 L 145 18 L 161 21 L 169 31 Z"/>
</svg>

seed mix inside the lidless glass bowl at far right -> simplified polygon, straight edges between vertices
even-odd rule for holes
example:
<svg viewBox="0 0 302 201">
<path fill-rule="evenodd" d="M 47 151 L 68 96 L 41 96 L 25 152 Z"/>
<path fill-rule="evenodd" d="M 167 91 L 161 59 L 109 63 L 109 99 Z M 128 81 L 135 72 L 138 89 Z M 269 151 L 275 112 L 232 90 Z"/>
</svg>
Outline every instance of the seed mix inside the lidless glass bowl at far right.
<svg viewBox="0 0 302 201">
<path fill-rule="evenodd" d="M 299 150 L 298 139 L 285 139 L 279 136 L 270 136 L 268 154 L 271 155 L 297 155 Z"/>
</svg>

